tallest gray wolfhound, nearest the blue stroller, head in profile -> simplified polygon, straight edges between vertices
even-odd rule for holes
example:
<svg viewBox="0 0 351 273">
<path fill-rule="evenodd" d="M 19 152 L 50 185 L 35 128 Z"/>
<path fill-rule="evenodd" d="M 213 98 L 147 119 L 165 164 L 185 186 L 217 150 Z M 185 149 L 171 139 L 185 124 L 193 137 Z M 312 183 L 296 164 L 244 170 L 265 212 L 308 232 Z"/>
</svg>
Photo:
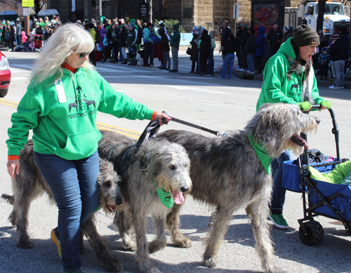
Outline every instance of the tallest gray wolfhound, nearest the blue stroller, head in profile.
<svg viewBox="0 0 351 273">
<path fill-rule="evenodd" d="M 279 157 L 285 149 L 302 152 L 303 142 L 296 132 L 317 129 L 319 120 L 303 114 L 298 105 L 264 105 L 249 121 L 244 131 L 228 133 L 234 138 L 207 138 L 188 131 L 166 131 L 157 138 L 164 138 L 183 145 L 191 161 L 192 197 L 216 207 L 208 224 L 204 265 L 216 266 L 216 254 L 225 237 L 232 213 L 245 206 L 251 220 L 255 248 L 265 272 L 279 272 L 274 267 L 270 239 L 268 204 L 272 192 L 272 177 L 260 163 L 249 142 L 260 144 L 270 157 Z M 293 138 L 292 138 L 293 137 Z M 238 141 L 239 140 L 239 141 Z M 294 140 L 294 141 L 293 141 Z M 296 142 L 300 142 L 297 145 Z M 166 225 L 174 244 L 189 247 L 189 239 L 179 232 L 179 210 L 175 205 L 167 215 Z"/>
</svg>

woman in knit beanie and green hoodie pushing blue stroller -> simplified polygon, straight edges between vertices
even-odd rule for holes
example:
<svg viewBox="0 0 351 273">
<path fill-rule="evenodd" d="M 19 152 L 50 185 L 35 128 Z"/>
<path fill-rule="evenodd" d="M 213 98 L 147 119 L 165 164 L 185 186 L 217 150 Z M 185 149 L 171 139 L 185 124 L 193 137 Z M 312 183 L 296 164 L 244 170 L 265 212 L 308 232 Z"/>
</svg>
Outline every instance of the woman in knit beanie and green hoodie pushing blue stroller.
<svg viewBox="0 0 351 273">
<path fill-rule="evenodd" d="M 322 105 L 329 109 L 330 102 L 319 96 L 317 81 L 312 66 L 312 55 L 319 46 L 317 32 L 307 25 L 293 30 L 293 37 L 286 40 L 277 54 L 268 60 L 263 76 L 263 85 L 256 105 L 256 111 L 264 103 L 291 103 L 309 111 L 311 105 Z M 283 152 L 272 161 L 273 192 L 270 205 L 270 220 L 276 227 L 289 229 L 283 216 L 286 190 L 282 188 L 283 162 L 293 160 L 291 151 Z"/>
</svg>

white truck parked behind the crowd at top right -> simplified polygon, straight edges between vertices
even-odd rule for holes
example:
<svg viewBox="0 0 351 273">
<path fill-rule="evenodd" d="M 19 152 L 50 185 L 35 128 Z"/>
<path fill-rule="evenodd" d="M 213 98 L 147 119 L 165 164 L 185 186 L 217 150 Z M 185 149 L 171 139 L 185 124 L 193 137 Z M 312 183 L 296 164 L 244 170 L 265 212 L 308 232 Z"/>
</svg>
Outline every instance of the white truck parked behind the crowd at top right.
<svg viewBox="0 0 351 273">
<path fill-rule="evenodd" d="M 317 18 L 319 11 L 318 1 L 305 0 L 298 8 L 298 17 L 307 20 L 307 25 L 317 29 Z M 343 6 L 340 1 L 326 1 L 324 8 L 323 32 L 324 35 L 333 34 L 334 27 L 350 27 L 350 15 L 347 16 L 348 6 Z M 300 15 L 300 16 L 299 16 Z M 300 24 L 300 21 L 298 22 Z"/>
</svg>

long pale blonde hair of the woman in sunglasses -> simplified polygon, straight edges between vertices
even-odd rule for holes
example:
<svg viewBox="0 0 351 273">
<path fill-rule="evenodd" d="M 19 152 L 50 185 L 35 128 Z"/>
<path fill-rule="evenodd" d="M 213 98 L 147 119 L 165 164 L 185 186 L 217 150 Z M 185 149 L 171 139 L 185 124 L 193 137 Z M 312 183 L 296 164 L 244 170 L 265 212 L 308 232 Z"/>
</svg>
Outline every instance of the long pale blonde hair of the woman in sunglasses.
<svg viewBox="0 0 351 273">
<path fill-rule="evenodd" d="M 41 51 L 39 58 L 34 64 L 29 76 L 30 84 L 40 84 L 42 81 L 56 76 L 62 78 L 62 63 L 72 52 L 84 53 L 94 49 L 94 40 L 84 27 L 76 24 L 66 24 L 58 27 L 55 33 L 48 39 L 47 44 Z M 84 62 L 86 72 L 95 70 L 90 62 Z"/>
</svg>

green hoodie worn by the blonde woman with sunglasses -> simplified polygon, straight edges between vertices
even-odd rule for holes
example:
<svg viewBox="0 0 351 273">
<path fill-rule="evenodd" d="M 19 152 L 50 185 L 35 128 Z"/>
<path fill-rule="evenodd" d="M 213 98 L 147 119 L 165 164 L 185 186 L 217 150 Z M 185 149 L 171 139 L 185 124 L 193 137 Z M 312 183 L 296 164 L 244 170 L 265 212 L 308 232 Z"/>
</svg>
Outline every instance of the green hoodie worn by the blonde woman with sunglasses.
<svg viewBox="0 0 351 273">
<path fill-rule="evenodd" d="M 35 152 L 84 159 L 98 149 L 102 137 L 95 126 L 97 111 L 126 119 L 152 118 L 151 109 L 116 92 L 98 72 L 79 68 L 72 74 L 63 69 L 63 98 L 67 102 L 61 103 L 54 79 L 52 76 L 37 86 L 29 84 L 11 117 L 8 155 L 20 154 L 32 129 Z"/>
</svg>

